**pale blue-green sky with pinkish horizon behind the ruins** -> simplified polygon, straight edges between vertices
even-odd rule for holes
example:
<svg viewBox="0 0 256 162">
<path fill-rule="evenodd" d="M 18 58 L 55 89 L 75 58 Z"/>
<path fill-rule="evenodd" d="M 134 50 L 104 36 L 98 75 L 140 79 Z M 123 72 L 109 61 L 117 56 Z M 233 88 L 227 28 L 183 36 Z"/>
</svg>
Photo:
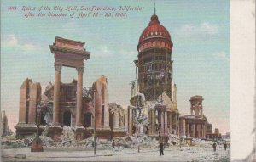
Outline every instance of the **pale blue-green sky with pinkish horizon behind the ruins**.
<svg viewBox="0 0 256 162">
<path fill-rule="evenodd" d="M 12 131 L 18 122 L 20 86 L 26 78 L 42 87 L 54 82 L 54 55 L 49 45 L 55 36 L 85 42 L 90 59 L 84 64 L 84 87 L 91 87 L 101 75 L 108 78 L 109 102 L 127 108 L 131 98 L 129 83 L 135 80 L 137 43 L 153 14 L 170 32 L 173 47 L 173 80 L 177 84 L 177 109 L 190 114 L 189 98 L 204 98 L 203 112 L 213 128 L 230 132 L 230 3 L 225 0 L 121 0 L 121 1 L 7 1 L 1 3 L 1 110 L 5 110 Z M 189 2 L 189 3 L 188 3 Z M 15 6 L 16 10 L 8 9 Z M 99 17 L 28 17 L 22 8 L 49 6 L 113 7 L 97 11 Z M 142 7 L 115 17 L 119 7 Z M 41 11 L 61 13 L 60 10 Z M 62 13 L 66 11 L 63 10 Z M 81 11 L 77 11 L 77 15 Z M 96 12 L 96 11 L 94 11 Z M 67 12 L 68 16 L 72 12 Z M 88 11 L 84 11 L 88 13 Z M 77 71 L 63 67 L 61 81 L 71 82 Z"/>
</svg>

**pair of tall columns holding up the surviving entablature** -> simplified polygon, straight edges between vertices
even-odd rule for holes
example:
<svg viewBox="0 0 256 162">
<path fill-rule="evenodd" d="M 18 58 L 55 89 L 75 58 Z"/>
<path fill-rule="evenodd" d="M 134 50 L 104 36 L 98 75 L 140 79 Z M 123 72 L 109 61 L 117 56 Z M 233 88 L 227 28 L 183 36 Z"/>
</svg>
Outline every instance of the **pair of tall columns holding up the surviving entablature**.
<svg viewBox="0 0 256 162">
<path fill-rule="evenodd" d="M 60 126 L 60 87 L 61 87 L 61 64 L 55 64 L 55 86 L 54 86 L 54 109 L 53 124 Z M 83 126 L 82 124 L 82 102 L 83 102 L 83 73 L 84 67 L 76 68 L 78 71 L 77 81 L 77 104 L 76 104 L 76 124 L 75 126 Z"/>
</svg>

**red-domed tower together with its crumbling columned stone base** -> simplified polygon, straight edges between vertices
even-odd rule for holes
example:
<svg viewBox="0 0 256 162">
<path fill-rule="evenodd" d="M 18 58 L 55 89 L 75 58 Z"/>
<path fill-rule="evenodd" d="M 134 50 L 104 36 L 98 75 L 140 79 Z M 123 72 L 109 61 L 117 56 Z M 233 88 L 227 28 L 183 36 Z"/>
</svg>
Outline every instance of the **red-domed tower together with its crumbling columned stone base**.
<svg viewBox="0 0 256 162">
<path fill-rule="evenodd" d="M 137 45 L 138 55 L 134 61 L 136 81 L 131 84 L 133 92 L 128 108 L 129 135 L 143 131 L 151 137 L 166 137 L 170 133 L 178 133 L 177 87 L 172 81 L 172 46 L 171 36 L 160 25 L 154 8 L 154 14 Z M 144 103 L 134 103 L 142 95 Z M 140 126 L 144 116 L 148 123 Z"/>
</svg>

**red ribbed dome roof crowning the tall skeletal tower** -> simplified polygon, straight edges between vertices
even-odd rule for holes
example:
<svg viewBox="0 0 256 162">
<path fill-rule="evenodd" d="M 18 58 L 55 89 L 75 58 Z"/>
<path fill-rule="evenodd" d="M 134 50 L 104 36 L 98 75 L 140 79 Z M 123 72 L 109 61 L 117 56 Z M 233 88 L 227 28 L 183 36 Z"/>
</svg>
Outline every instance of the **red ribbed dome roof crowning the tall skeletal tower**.
<svg viewBox="0 0 256 162">
<path fill-rule="evenodd" d="M 137 48 L 139 48 L 143 44 L 143 42 L 147 42 L 152 38 L 158 38 L 162 40 L 164 39 L 165 42 L 170 45 L 169 47 L 172 47 L 171 36 L 166 28 L 163 25 L 160 25 L 160 21 L 158 20 L 158 16 L 156 14 L 153 14 L 151 16 L 151 21 L 142 32 L 139 38 Z"/>
</svg>

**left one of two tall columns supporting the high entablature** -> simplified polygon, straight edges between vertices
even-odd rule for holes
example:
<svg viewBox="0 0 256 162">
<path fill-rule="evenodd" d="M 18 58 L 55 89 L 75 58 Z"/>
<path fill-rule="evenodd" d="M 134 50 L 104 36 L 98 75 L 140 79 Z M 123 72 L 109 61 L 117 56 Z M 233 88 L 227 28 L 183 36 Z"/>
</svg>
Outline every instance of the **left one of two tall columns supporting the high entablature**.
<svg viewBox="0 0 256 162">
<path fill-rule="evenodd" d="M 61 87 L 61 64 L 55 64 L 55 85 L 54 85 L 54 109 L 53 109 L 53 124 L 60 125 L 60 87 Z"/>
</svg>

